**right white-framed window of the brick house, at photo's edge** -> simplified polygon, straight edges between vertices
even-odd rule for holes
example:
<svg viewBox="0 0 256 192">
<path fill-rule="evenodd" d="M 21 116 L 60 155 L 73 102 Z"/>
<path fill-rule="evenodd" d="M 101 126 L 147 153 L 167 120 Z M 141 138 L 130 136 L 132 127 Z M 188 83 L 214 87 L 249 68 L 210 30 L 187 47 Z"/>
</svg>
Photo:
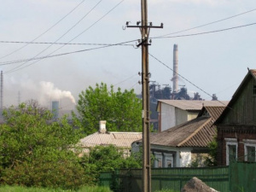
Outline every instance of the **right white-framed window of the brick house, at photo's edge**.
<svg viewBox="0 0 256 192">
<path fill-rule="evenodd" d="M 256 140 L 244 139 L 244 160 L 248 162 L 256 162 Z"/>
</svg>

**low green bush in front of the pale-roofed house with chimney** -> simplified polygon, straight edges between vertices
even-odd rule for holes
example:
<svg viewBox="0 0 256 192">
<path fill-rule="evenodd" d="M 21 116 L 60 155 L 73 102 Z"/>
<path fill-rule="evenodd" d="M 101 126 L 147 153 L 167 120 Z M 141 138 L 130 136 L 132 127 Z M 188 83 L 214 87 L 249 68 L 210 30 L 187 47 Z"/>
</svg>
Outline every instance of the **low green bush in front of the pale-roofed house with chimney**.
<svg viewBox="0 0 256 192">
<path fill-rule="evenodd" d="M 113 145 L 91 148 L 90 154 L 84 154 L 81 163 L 85 172 L 94 178 L 94 183 L 98 182 L 100 172 L 142 167 L 141 162 L 134 156 L 127 156 L 124 149 Z"/>
</svg>

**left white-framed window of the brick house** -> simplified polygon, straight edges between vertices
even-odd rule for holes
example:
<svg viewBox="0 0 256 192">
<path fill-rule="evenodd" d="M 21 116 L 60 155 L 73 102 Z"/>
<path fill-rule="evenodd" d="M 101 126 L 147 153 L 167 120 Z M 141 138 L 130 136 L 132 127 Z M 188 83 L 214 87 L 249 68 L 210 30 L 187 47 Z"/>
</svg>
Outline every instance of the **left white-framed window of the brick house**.
<svg viewBox="0 0 256 192">
<path fill-rule="evenodd" d="M 226 165 L 237 159 L 237 140 L 236 138 L 225 138 L 226 141 Z"/>
</svg>

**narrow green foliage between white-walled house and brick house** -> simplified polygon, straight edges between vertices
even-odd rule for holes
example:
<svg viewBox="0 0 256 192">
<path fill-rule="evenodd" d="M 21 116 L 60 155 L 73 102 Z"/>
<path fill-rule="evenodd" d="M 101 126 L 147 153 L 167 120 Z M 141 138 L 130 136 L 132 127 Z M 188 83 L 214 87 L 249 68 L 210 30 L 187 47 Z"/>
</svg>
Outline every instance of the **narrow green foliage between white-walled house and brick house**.
<svg viewBox="0 0 256 192">
<path fill-rule="evenodd" d="M 205 165 L 206 166 L 217 166 L 217 137 L 214 137 L 213 141 L 211 143 L 208 143 L 209 148 L 209 156 L 205 159 Z"/>
</svg>

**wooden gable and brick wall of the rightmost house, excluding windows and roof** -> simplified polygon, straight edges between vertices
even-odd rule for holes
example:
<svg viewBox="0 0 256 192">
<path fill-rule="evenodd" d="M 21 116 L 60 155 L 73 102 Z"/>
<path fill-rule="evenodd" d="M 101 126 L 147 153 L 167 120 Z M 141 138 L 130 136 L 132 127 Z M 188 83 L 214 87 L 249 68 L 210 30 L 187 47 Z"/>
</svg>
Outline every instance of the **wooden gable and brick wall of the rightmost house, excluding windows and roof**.
<svg viewBox="0 0 256 192">
<path fill-rule="evenodd" d="M 238 88 L 231 108 L 218 122 L 218 166 L 226 166 L 230 141 L 237 143 L 237 160 L 247 160 L 246 140 L 256 141 L 256 82 L 253 77 L 246 79 Z M 229 140 L 230 139 L 230 140 Z M 232 142 L 230 142 L 232 143 Z"/>
</svg>

